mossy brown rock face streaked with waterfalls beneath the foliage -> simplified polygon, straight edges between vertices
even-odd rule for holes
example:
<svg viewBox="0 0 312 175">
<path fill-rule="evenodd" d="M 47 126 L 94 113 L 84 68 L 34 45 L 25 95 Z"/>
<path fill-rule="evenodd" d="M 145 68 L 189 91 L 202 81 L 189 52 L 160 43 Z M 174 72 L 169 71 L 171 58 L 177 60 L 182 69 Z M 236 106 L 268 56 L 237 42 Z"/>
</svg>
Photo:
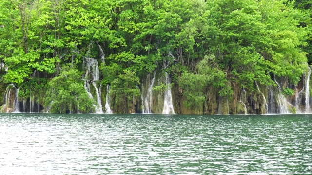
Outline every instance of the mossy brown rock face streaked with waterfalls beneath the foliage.
<svg viewBox="0 0 312 175">
<path fill-rule="evenodd" d="M 285 79 L 275 79 L 275 85 L 263 86 L 254 82 L 254 89 L 232 83 L 233 95 L 220 96 L 219 89 L 207 87 L 202 105 L 187 107 L 183 90 L 167 72 L 156 70 L 141 77 L 137 86 L 140 96 L 129 98 L 127 104 L 118 104 L 109 94 L 110 86 L 100 84 L 97 60 L 88 60 L 86 64 L 85 88 L 92 98 L 96 98 L 97 113 L 155 113 L 155 114 L 290 114 L 311 113 L 309 69 L 297 85 Z M 89 63 L 88 62 L 88 63 Z M 91 69 L 92 68 L 92 69 Z M 95 71 L 94 71 L 95 70 Z M 173 82 L 173 83 L 172 83 Z M 91 86 L 90 86 L 91 85 Z M 13 84 L 1 84 L 3 104 L 1 112 L 46 112 L 34 97 L 21 98 L 19 89 Z M 5 87 L 5 88 L 4 88 Z M 162 88 L 161 88 L 162 87 Z M 289 88 L 293 95 L 284 95 L 282 89 Z"/>
</svg>

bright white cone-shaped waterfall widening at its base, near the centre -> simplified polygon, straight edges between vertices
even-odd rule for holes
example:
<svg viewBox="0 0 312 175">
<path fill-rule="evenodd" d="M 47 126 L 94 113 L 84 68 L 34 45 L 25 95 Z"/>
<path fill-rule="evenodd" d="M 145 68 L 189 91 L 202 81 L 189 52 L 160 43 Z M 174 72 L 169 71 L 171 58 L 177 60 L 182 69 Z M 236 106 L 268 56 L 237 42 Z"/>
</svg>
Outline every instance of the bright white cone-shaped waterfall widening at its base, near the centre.
<svg viewBox="0 0 312 175">
<path fill-rule="evenodd" d="M 164 92 L 164 108 L 162 110 L 162 114 L 175 114 L 174 105 L 172 102 L 171 83 L 170 83 L 169 74 L 167 72 L 166 72 L 165 84 L 167 88 Z"/>
</svg>

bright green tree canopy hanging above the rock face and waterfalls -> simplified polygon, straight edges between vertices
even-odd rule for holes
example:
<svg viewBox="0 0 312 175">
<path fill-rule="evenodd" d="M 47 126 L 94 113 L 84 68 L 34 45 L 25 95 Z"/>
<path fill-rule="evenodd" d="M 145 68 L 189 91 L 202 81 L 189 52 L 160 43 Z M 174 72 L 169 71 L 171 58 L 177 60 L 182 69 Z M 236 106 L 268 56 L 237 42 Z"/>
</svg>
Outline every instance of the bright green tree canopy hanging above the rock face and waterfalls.
<svg viewBox="0 0 312 175">
<path fill-rule="evenodd" d="M 81 88 L 80 76 L 72 74 L 82 70 L 83 58 L 99 58 L 102 49 L 102 84 L 110 84 L 119 100 L 137 96 L 143 75 L 161 69 L 183 88 L 191 105 L 202 103 L 210 86 L 219 89 L 219 95 L 231 96 L 233 82 L 249 89 L 255 88 L 254 81 L 274 85 L 273 77 L 296 84 L 307 63 L 312 63 L 311 4 L 311 0 L 1 0 L 0 62 L 7 71 L 1 65 L 0 73 L 4 82 L 28 91 L 36 91 L 29 83 L 35 78 L 46 79 L 40 81 L 46 84 L 50 79 L 67 81 L 64 76 Z M 78 70 L 67 75 L 61 68 L 68 63 Z M 66 92 L 82 94 L 80 88 Z M 24 92 L 27 98 L 29 93 Z M 51 102 L 52 96 L 47 98 Z M 55 104 L 61 106 L 64 99 L 67 102 L 70 96 L 59 95 Z M 75 110 L 77 105 L 54 110 Z M 90 111 L 89 107 L 83 110 Z"/>
</svg>

